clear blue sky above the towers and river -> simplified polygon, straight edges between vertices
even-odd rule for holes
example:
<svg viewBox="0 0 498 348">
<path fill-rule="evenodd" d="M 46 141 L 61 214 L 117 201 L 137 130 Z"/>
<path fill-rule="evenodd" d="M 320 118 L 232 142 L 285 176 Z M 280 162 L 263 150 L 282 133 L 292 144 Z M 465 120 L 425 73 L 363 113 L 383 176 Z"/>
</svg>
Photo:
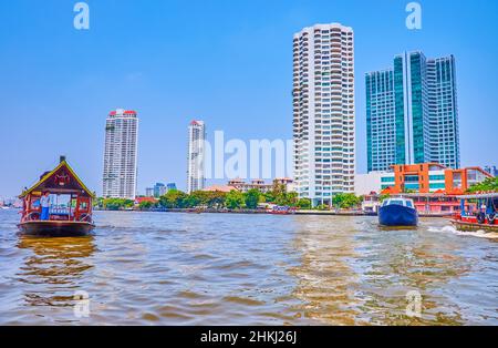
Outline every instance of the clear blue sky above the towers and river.
<svg viewBox="0 0 498 348">
<path fill-rule="evenodd" d="M 498 2 L 402 0 L 73 0 L 0 2 L 0 196 L 18 194 L 66 154 L 101 192 L 104 124 L 137 110 L 138 190 L 185 188 L 186 126 L 205 120 L 226 137 L 290 139 L 292 35 L 314 23 L 355 32 L 356 163 L 366 170 L 364 73 L 405 50 L 455 54 L 463 165 L 498 164 Z"/>
</svg>

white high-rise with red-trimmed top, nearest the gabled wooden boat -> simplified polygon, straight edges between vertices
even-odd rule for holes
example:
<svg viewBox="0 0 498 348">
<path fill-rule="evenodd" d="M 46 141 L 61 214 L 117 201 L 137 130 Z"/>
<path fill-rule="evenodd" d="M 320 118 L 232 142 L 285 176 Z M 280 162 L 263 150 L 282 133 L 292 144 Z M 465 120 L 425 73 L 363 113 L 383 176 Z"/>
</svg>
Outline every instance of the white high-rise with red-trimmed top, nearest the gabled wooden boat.
<svg viewBox="0 0 498 348">
<path fill-rule="evenodd" d="M 112 111 L 105 124 L 103 195 L 135 199 L 138 117 L 135 111 Z"/>
</svg>

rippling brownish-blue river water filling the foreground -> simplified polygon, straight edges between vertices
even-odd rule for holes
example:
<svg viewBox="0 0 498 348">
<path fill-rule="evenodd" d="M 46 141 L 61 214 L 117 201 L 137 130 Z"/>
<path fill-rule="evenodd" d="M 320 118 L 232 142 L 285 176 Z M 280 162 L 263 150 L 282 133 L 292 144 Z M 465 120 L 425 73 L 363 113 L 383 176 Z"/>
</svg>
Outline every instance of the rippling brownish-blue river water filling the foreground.
<svg viewBox="0 0 498 348">
<path fill-rule="evenodd" d="M 18 218 L 3 325 L 498 325 L 498 239 L 445 219 L 101 212 L 92 236 L 33 238 Z"/>
</svg>

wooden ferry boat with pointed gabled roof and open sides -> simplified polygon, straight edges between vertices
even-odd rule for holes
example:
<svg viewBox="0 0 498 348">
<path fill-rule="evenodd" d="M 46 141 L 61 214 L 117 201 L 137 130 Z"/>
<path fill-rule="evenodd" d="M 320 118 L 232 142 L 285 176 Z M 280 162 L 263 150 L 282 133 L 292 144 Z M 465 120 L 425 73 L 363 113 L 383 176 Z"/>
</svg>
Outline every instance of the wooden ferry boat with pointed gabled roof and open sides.
<svg viewBox="0 0 498 348">
<path fill-rule="evenodd" d="M 44 193 L 49 193 L 51 199 L 46 219 L 42 219 L 40 205 Z M 19 196 L 22 199 L 22 216 L 18 227 L 28 235 L 86 235 L 95 228 L 92 218 L 94 197 L 65 157 L 61 156 L 52 172 L 44 173 L 37 184 Z"/>
</svg>

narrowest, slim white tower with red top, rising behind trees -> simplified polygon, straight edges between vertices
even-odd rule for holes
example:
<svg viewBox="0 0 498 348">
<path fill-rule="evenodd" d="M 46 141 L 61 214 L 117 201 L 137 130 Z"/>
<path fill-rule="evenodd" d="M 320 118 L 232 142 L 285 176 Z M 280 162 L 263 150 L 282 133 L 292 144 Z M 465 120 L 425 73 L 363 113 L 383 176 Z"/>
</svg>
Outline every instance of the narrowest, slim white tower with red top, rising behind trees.
<svg viewBox="0 0 498 348">
<path fill-rule="evenodd" d="M 204 190 L 204 155 L 206 126 L 203 121 L 193 121 L 188 126 L 187 193 Z"/>
</svg>

